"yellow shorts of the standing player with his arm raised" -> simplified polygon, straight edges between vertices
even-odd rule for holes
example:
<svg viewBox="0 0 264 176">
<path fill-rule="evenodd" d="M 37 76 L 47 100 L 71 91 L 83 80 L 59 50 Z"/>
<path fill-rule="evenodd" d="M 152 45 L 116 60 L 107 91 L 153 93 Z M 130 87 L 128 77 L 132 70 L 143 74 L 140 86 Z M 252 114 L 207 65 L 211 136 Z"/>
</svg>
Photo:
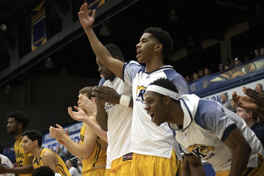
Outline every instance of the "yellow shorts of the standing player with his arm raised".
<svg viewBox="0 0 264 176">
<path fill-rule="evenodd" d="M 181 167 L 182 161 L 177 159 L 173 149 L 171 158 L 134 153 L 131 176 L 178 176 Z"/>
</svg>

